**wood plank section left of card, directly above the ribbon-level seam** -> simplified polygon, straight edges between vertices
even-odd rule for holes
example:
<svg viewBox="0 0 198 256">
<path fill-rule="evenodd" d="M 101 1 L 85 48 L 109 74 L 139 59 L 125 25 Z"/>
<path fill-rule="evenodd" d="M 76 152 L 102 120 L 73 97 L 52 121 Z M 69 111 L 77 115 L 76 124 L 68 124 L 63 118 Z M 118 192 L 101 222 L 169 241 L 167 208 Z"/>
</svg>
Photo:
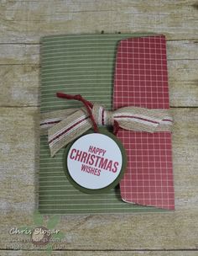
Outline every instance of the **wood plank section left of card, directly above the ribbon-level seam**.
<svg viewBox="0 0 198 256">
<path fill-rule="evenodd" d="M 0 106 L 39 104 L 39 66 L 1 66 Z"/>
</svg>

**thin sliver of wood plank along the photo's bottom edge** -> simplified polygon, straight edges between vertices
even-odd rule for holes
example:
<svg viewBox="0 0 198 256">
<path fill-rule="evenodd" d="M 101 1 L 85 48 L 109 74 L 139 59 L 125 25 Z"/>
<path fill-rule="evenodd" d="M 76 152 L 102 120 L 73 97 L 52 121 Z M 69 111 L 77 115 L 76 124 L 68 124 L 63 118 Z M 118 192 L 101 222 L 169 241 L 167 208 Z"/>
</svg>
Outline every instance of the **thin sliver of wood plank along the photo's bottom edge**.
<svg viewBox="0 0 198 256">
<path fill-rule="evenodd" d="M 46 256 L 43 251 L 29 251 L 29 256 Z M 193 251 L 171 251 L 171 252 L 137 252 L 137 251 L 53 251 L 53 255 L 63 256 L 197 256 L 197 252 Z M 1 251 L 1 256 L 27 256 L 27 251 Z"/>
</svg>

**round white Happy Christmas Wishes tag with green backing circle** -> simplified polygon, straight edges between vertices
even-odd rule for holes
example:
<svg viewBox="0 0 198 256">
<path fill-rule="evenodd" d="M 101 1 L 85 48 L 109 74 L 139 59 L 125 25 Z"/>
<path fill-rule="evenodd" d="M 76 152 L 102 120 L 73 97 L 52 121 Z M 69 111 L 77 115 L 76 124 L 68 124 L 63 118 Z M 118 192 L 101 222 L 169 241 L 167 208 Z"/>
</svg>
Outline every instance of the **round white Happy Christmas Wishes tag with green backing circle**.
<svg viewBox="0 0 198 256">
<path fill-rule="evenodd" d="M 115 187 L 126 167 L 122 143 L 108 131 L 87 133 L 65 150 L 65 173 L 70 182 L 86 193 Z"/>
</svg>

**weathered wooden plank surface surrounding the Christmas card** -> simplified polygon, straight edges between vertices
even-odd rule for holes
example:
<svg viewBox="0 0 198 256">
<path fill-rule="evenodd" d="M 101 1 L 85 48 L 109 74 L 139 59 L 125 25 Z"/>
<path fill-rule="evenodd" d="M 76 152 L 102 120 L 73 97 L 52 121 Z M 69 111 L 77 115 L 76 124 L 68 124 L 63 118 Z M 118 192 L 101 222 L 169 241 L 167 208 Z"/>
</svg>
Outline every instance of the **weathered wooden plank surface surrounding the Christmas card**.
<svg viewBox="0 0 198 256">
<path fill-rule="evenodd" d="M 9 234 L 34 227 L 40 36 L 102 30 L 167 37 L 176 210 L 60 216 L 65 240 L 52 255 L 198 255 L 198 2 L 1 0 L 0 28 L 0 255 L 46 255 Z"/>
</svg>

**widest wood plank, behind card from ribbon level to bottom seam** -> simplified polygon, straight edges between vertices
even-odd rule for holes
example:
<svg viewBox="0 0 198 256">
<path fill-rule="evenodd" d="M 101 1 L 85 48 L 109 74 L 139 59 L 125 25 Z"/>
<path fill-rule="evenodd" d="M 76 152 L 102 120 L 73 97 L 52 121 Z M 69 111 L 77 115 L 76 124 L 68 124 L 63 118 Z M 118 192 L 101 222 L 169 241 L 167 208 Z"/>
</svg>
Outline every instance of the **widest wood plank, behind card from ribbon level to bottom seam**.
<svg viewBox="0 0 198 256">
<path fill-rule="evenodd" d="M 12 227 L 32 227 L 39 158 L 39 109 L 0 108 L 0 248 L 17 241 Z M 195 249 L 198 228 L 198 112 L 173 109 L 176 211 L 136 215 L 61 216 L 67 249 Z M 21 237 L 23 238 L 23 237 Z M 34 248 L 34 247 L 33 247 Z"/>
</svg>

